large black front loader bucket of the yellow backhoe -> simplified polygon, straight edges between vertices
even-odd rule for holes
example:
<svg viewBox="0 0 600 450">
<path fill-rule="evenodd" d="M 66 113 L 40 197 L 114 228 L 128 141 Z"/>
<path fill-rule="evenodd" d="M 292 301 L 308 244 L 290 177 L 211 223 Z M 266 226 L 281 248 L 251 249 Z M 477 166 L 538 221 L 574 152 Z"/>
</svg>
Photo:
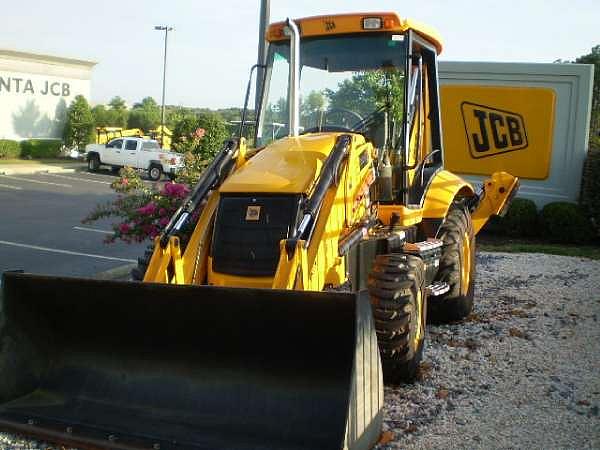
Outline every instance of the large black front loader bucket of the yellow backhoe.
<svg viewBox="0 0 600 450">
<path fill-rule="evenodd" d="M 367 449 L 365 294 L 5 273 L 0 428 L 85 448 Z"/>
</svg>

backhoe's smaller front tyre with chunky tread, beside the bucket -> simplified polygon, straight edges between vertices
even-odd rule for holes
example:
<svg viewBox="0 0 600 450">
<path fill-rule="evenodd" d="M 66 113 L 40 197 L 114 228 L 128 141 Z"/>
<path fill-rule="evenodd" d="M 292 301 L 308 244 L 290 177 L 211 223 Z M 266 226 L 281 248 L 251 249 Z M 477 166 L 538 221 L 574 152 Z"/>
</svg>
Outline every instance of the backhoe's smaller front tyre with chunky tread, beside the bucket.
<svg viewBox="0 0 600 450">
<path fill-rule="evenodd" d="M 412 255 L 378 255 L 369 275 L 377 342 L 386 383 L 414 381 L 423 356 L 425 265 Z"/>
</svg>

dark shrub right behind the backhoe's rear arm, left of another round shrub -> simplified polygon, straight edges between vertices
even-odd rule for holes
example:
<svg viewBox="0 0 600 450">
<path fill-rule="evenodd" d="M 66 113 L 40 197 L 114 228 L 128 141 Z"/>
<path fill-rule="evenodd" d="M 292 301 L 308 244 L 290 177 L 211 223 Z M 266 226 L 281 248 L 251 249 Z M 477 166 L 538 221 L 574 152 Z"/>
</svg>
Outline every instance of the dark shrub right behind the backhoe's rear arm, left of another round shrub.
<svg viewBox="0 0 600 450">
<path fill-rule="evenodd" d="M 504 217 L 492 216 L 485 231 L 512 237 L 529 237 L 537 234 L 538 211 L 527 198 L 515 198 Z"/>
</svg>

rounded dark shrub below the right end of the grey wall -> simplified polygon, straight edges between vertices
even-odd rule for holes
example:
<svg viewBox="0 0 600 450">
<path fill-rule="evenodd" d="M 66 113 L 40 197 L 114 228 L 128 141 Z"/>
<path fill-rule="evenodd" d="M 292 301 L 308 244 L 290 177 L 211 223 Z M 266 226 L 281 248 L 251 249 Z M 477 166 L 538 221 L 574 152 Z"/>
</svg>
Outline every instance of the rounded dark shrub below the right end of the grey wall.
<svg viewBox="0 0 600 450">
<path fill-rule="evenodd" d="M 551 242 L 580 244 L 589 241 L 592 224 L 579 205 L 553 202 L 542 209 L 540 227 L 543 237 Z"/>
</svg>

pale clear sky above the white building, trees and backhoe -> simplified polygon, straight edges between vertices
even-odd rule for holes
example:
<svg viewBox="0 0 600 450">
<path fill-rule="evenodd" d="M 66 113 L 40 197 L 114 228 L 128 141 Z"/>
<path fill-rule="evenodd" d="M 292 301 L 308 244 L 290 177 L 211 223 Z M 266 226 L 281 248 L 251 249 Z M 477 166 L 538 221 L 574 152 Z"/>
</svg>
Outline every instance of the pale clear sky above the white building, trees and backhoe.
<svg viewBox="0 0 600 450">
<path fill-rule="evenodd" d="M 169 25 L 166 103 L 240 106 L 257 59 L 260 0 L 21 0 L 3 2 L 0 48 L 97 62 L 92 104 L 120 95 L 161 100 Z M 600 45 L 600 0 L 271 0 L 271 22 L 396 11 L 436 28 L 441 60 L 574 60 Z M 600 74 L 598 74 L 600 76 Z"/>
</svg>

